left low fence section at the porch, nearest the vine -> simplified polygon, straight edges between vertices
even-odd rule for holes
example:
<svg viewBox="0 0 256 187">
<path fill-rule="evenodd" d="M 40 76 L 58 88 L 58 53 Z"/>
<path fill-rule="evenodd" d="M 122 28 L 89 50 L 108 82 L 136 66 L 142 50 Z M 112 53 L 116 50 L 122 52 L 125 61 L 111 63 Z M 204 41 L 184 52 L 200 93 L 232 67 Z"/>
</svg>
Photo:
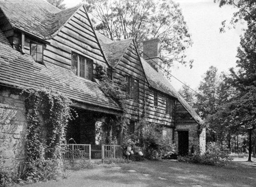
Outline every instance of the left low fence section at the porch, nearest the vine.
<svg viewBox="0 0 256 187">
<path fill-rule="evenodd" d="M 69 162 L 76 160 L 91 160 L 91 145 L 90 144 L 65 144 L 64 159 Z"/>
</svg>

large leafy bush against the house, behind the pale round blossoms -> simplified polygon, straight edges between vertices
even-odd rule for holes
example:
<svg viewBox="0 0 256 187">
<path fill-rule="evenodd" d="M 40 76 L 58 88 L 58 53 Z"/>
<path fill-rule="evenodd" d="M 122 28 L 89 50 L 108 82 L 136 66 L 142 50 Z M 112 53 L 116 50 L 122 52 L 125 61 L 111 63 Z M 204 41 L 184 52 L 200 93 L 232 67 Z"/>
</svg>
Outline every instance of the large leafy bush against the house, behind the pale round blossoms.
<svg viewBox="0 0 256 187">
<path fill-rule="evenodd" d="M 124 144 L 125 155 L 127 147 L 131 147 L 134 154 L 132 160 L 159 159 L 168 157 L 175 152 L 175 146 L 169 137 L 163 136 L 162 127 L 144 120 L 140 121 L 138 129 L 126 137 Z M 143 152 L 143 156 L 139 152 Z"/>
</svg>

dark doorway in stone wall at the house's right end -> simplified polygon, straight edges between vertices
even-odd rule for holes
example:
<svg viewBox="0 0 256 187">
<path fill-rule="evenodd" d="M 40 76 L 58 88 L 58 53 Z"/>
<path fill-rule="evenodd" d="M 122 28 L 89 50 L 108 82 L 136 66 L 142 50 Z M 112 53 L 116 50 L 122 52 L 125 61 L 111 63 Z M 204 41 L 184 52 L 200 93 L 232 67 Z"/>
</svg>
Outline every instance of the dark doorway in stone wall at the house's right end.
<svg viewBox="0 0 256 187">
<path fill-rule="evenodd" d="M 179 155 L 187 155 L 189 153 L 189 131 L 178 131 L 178 148 Z"/>
</svg>

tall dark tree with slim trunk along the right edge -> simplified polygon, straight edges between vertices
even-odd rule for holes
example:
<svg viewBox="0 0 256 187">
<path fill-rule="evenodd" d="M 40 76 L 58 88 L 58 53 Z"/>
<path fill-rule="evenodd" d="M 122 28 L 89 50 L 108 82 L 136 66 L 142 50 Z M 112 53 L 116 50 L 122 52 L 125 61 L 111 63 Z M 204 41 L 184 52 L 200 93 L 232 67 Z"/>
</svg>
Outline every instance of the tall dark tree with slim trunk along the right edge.
<svg viewBox="0 0 256 187">
<path fill-rule="evenodd" d="M 216 2 L 216 0 L 214 0 Z M 255 108 L 251 98 L 255 98 L 256 91 L 256 3 L 255 0 L 218 0 L 219 6 L 230 5 L 237 8 L 233 14 L 230 24 L 236 26 L 239 20 L 247 23 L 244 35 L 240 37 L 238 48 L 237 68 L 238 71 L 230 69 L 229 82 L 237 88 L 237 96 L 234 101 L 227 104 L 226 109 L 231 109 L 231 115 L 236 123 L 241 125 L 248 132 L 249 137 L 249 157 L 251 161 L 252 132 L 255 129 Z M 225 21 L 222 22 L 221 31 L 224 30 Z M 237 112 L 239 111 L 239 112 Z M 242 117 L 241 117 L 242 116 Z"/>
</svg>

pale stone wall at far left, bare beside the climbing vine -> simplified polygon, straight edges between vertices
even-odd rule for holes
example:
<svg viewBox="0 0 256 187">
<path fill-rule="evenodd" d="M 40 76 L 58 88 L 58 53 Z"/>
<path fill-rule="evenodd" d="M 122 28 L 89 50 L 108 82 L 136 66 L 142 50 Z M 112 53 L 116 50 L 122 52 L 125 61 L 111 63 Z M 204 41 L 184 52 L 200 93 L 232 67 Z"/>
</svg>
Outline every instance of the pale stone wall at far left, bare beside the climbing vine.
<svg viewBox="0 0 256 187">
<path fill-rule="evenodd" d="M 0 167 L 24 160 L 26 109 L 18 89 L 0 87 Z"/>
</svg>

